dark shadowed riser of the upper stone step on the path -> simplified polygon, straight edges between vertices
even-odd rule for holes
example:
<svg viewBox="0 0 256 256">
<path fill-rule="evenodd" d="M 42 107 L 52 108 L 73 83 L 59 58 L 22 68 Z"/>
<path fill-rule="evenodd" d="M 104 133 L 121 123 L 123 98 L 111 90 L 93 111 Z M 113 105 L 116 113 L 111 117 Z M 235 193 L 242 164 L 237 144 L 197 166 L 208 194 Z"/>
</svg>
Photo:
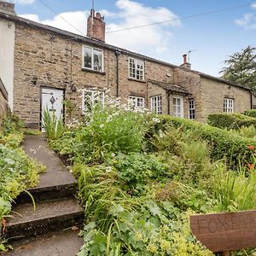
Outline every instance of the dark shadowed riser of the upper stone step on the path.
<svg viewBox="0 0 256 256">
<path fill-rule="evenodd" d="M 51 186 L 38 186 L 32 189 L 26 189 L 32 195 L 34 201 L 49 201 L 54 199 L 61 199 L 73 197 L 77 192 L 77 183 L 61 183 Z M 16 199 L 15 203 L 23 204 L 32 201 L 30 195 L 22 192 Z"/>
</svg>

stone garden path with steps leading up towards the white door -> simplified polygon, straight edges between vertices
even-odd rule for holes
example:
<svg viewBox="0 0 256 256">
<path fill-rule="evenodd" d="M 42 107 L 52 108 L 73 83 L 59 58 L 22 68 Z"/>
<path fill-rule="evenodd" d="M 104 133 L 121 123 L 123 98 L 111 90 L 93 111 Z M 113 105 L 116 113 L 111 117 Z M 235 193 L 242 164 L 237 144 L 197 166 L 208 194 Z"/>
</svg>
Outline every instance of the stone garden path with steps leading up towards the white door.
<svg viewBox="0 0 256 256">
<path fill-rule="evenodd" d="M 21 194 L 7 219 L 5 236 L 15 249 L 4 256 L 74 256 L 83 240 L 78 236 L 84 212 L 74 198 L 76 180 L 44 137 L 26 136 L 26 154 L 46 166 L 38 186 L 27 189 L 36 201 L 36 210 L 26 193 Z"/>
</svg>

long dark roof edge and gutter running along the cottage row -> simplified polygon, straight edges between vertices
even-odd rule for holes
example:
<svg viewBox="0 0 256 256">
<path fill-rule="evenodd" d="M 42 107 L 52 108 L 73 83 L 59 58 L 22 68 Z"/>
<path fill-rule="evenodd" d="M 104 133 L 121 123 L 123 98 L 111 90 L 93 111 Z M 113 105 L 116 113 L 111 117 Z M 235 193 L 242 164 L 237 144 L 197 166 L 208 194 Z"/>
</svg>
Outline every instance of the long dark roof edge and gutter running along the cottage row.
<svg viewBox="0 0 256 256">
<path fill-rule="evenodd" d="M 111 44 L 106 44 L 106 43 L 103 43 L 101 41 L 98 41 L 98 40 L 95 40 L 95 39 L 92 39 L 92 38 L 86 38 L 85 36 L 81 36 L 81 35 L 75 34 L 73 32 L 67 32 L 67 31 L 61 30 L 61 29 L 53 27 L 53 26 L 48 26 L 48 25 L 38 23 L 36 21 L 27 20 L 25 18 L 16 16 L 16 15 L 7 15 L 7 14 L 4 14 L 3 12 L 0 11 L 0 19 L 1 18 L 5 19 L 5 20 L 11 20 L 11 21 L 14 21 L 14 22 L 17 22 L 17 23 L 21 23 L 21 24 L 26 25 L 26 26 L 31 26 L 33 29 L 37 28 L 37 29 L 41 29 L 41 30 L 45 30 L 45 31 L 49 31 L 49 32 L 55 32 L 55 33 L 57 33 L 61 36 L 64 36 L 64 37 L 67 37 L 67 38 L 73 38 L 74 40 L 76 40 L 78 42 L 85 43 L 85 44 L 92 44 L 92 45 L 96 45 L 98 47 L 102 47 L 103 49 L 110 49 L 110 50 L 113 50 L 113 51 L 119 51 L 122 54 L 131 55 L 131 56 L 141 58 L 141 59 L 146 60 L 146 61 L 152 61 L 152 62 L 155 62 L 155 63 L 159 63 L 159 64 L 165 65 L 167 67 L 182 69 L 186 72 L 195 73 L 195 74 L 197 74 L 201 77 L 207 78 L 207 79 L 216 80 L 216 81 L 218 81 L 220 83 L 224 83 L 224 84 L 230 84 L 232 86 L 236 86 L 236 87 L 239 87 L 241 89 L 249 90 L 250 92 L 252 92 L 252 90 L 241 86 L 241 84 L 231 83 L 231 82 L 226 81 L 224 79 L 214 77 L 214 76 L 206 74 L 206 73 L 201 73 L 201 72 L 198 72 L 198 71 L 195 71 L 195 70 L 188 70 L 184 67 L 179 67 L 177 65 L 173 65 L 173 64 L 168 63 L 166 61 L 160 61 L 160 60 L 148 57 L 146 55 L 141 55 L 141 54 L 132 52 L 128 49 L 122 49 L 122 48 L 113 46 Z"/>
</svg>

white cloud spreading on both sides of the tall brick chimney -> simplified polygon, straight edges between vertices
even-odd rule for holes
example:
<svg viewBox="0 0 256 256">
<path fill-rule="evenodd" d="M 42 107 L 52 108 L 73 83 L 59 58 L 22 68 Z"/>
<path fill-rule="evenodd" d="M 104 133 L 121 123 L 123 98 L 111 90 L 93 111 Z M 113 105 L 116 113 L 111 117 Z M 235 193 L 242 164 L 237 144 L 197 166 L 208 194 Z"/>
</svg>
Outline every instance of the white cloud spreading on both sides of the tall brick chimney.
<svg viewBox="0 0 256 256">
<path fill-rule="evenodd" d="M 154 57 L 162 57 L 170 50 L 170 47 L 172 47 L 172 32 L 170 31 L 174 27 L 181 26 L 180 20 L 176 20 L 177 15 L 173 14 L 170 9 L 163 7 L 154 9 L 145 6 L 143 3 L 131 0 L 118 0 L 116 6 L 119 10 L 117 13 L 109 12 L 106 9 L 100 11 L 106 18 L 112 19 L 112 22 L 110 23 L 108 23 L 107 19 L 106 42 L 108 44 L 131 49 Z M 26 14 L 20 16 L 49 26 L 55 26 L 63 30 L 84 35 L 86 34 L 86 20 L 88 15 L 88 11 L 65 12 L 56 15 L 51 20 L 39 20 L 38 15 Z M 65 20 L 73 26 L 67 24 Z M 173 21 L 111 33 L 111 31 L 127 27 L 143 26 L 165 20 Z"/>
</svg>

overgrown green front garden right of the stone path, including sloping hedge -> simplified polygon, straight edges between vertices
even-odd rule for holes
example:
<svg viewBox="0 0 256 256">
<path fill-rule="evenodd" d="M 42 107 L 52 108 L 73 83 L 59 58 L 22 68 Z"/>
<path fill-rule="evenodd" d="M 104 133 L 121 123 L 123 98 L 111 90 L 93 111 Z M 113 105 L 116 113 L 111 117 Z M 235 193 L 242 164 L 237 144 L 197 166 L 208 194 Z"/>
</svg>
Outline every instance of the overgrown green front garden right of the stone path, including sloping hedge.
<svg viewBox="0 0 256 256">
<path fill-rule="evenodd" d="M 212 255 L 189 215 L 256 207 L 253 138 L 116 106 L 95 106 L 64 131 L 53 123 L 50 146 L 78 179 L 85 212 L 79 256 Z"/>
</svg>

